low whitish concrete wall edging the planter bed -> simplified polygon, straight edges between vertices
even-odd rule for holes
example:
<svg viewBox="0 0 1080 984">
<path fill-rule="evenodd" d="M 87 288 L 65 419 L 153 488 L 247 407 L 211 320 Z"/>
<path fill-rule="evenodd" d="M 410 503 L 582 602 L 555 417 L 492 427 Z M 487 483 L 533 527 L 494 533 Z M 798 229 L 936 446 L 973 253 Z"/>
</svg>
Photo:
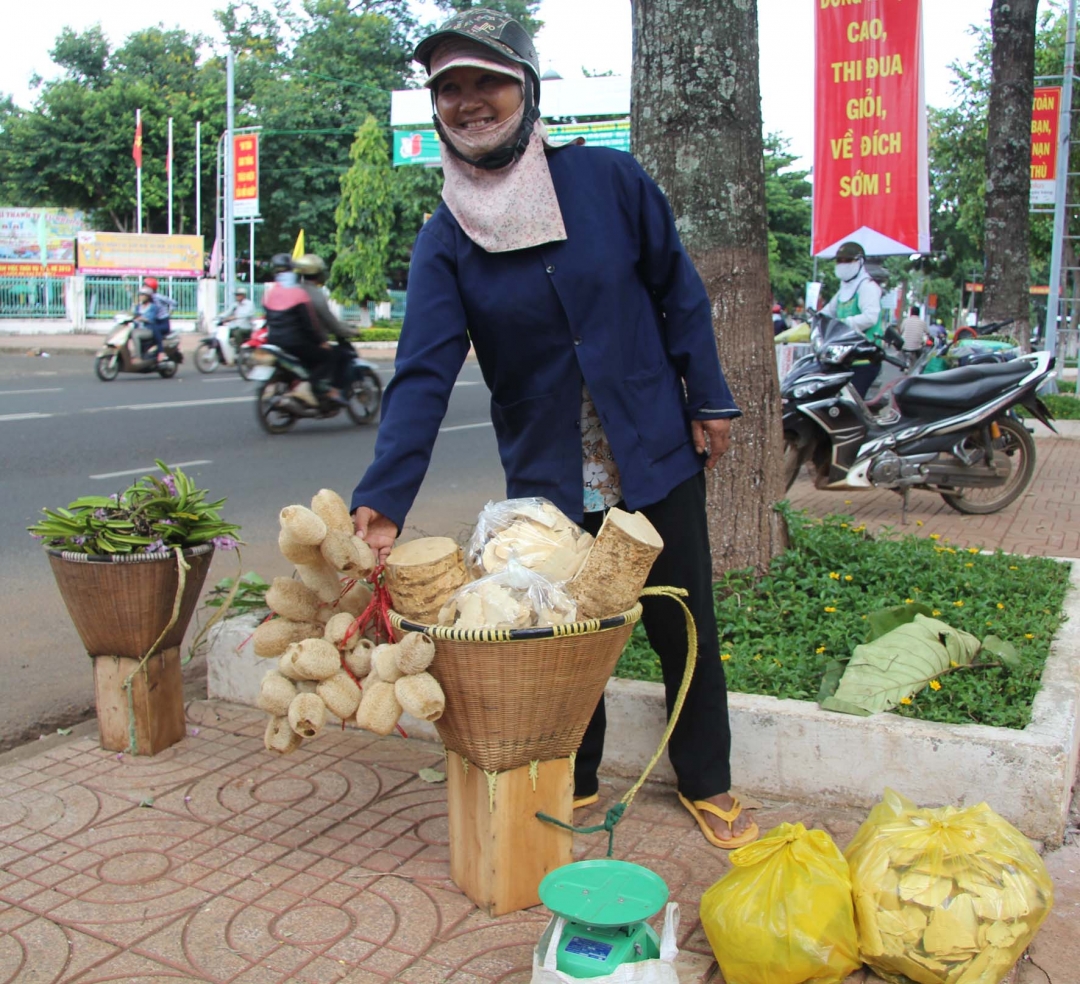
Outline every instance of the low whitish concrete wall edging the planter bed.
<svg viewBox="0 0 1080 984">
<path fill-rule="evenodd" d="M 1062 841 L 1077 767 L 1080 712 L 1080 564 L 1065 601 L 1068 621 L 1047 661 L 1031 723 L 1022 731 L 982 725 L 935 725 L 878 714 L 855 717 L 809 701 L 729 696 L 737 788 L 778 799 L 869 807 L 888 785 L 920 805 L 986 800 L 1028 837 Z M 253 704 L 272 665 L 234 649 L 253 618 L 231 619 L 208 660 L 210 696 Z M 612 679 L 603 771 L 636 779 L 664 728 L 660 684 Z M 434 726 L 403 722 L 411 738 L 437 741 Z M 664 757 L 653 776 L 674 782 Z"/>
</svg>

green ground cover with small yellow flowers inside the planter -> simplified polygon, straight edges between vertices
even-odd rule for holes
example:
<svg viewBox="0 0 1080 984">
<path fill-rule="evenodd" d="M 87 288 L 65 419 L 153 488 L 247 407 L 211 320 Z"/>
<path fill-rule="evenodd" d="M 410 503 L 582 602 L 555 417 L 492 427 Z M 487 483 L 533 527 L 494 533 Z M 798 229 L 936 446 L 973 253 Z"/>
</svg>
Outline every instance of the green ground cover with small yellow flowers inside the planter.
<svg viewBox="0 0 1080 984">
<path fill-rule="evenodd" d="M 731 571 L 716 582 L 716 621 L 728 689 L 815 700 L 826 663 L 866 637 L 866 616 L 922 602 L 942 621 L 982 639 L 1012 643 L 1018 668 L 959 670 L 891 713 L 945 724 L 1023 728 L 1050 643 L 1064 621 L 1069 566 L 1047 557 L 982 554 L 935 536 L 872 537 L 850 516 L 815 520 L 782 506 L 792 545 L 768 575 Z M 640 625 L 616 675 L 659 680 L 660 661 Z"/>
</svg>

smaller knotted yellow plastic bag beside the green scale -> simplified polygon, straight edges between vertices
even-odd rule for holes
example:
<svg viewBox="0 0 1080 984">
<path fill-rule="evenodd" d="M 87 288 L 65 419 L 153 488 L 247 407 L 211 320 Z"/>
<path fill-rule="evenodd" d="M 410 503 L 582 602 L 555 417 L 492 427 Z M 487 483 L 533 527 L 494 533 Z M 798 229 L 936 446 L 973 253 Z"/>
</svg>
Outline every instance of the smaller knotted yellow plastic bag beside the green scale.
<svg viewBox="0 0 1080 984">
<path fill-rule="evenodd" d="M 730 857 L 701 899 L 727 984 L 839 984 L 859 969 L 848 864 L 828 834 L 782 823 Z"/>
</svg>

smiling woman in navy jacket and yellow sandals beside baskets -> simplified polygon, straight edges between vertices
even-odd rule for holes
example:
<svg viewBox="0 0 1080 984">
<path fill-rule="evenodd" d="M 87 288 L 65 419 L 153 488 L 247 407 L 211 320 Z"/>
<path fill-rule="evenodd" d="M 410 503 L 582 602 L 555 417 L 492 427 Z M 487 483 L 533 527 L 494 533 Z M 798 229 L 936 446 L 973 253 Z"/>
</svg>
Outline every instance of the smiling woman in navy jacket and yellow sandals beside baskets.
<svg viewBox="0 0 1080 984">
<path fill-rule="evenodd" d="M 710 841 L 757 836 L 729 794 L 727 693 L 712 605 L 703 466 L 740 415 L 710 302 L 663 194 L 621 151 L 552 148 L 532 42 L 473 9 L 417 48 L 443 139 L 443 204 L 417 237 L 396 372 L 375 460 L 353 494 L 356 530 L 384 557 L 420 488 L 472 345 L 491 391 L 510 497 L 543 496 L 595 533 L 619 504 L 665 549 L 649 582 L 686 587 L 700 650 L 671 740 L 679 798 Z M 669 707 L 686 661 L 677 606 L 647 599 Z M 595 803 L 600 702 L 575 764 Z"/>
</svg>

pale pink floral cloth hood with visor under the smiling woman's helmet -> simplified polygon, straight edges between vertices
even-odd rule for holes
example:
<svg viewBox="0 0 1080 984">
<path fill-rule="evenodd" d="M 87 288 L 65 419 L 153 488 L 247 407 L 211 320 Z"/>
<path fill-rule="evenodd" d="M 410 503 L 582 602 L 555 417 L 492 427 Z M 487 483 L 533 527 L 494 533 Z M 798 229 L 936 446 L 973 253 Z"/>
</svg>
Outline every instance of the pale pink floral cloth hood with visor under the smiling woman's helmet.
<svg viewBox="0 0 1080 984">
<path fill-rule="evenodd" d="M 483 64 L 478 64 L 483 63 Z M 447 42 L 435 50 L 431 78 L 459 65 L 489 68 L 516 78 L 523 87 L 525 72 L 512 62 L 498 58 L 481 44 Z M 525 103 L 501 123 L 480 130 L 448 126 L 438 120 L 446 140 L 458 153 L 477 158 L 514 139 L 525 113 Z M 548 131 L 540 120 L 532 125 L 525 152 L 498 169 L 475 167 L 445 145 L 443 157 L 443 201 L 461 229 L 488 253 L 509 253 L 566 239 L 563 213 L 548 170 L 544 144 Z"/>
</svg>

